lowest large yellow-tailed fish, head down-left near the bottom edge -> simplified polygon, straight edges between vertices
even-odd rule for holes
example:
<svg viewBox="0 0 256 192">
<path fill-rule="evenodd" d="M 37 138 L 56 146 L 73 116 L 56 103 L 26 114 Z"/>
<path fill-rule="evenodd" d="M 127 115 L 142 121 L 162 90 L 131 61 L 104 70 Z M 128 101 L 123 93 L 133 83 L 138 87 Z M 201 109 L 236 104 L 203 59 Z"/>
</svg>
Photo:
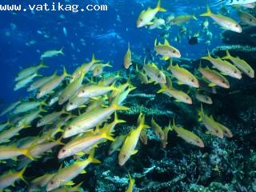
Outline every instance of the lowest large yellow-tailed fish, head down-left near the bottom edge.
<svg viewBox="0 0 256 192">
<path fill-rule="evenodd" d="M 58 173 L 54 175 L 50 182 L 46 186 L 47 191 L 55 190 L 60 186 L 69 185 L 73 178 L 76 178 L 78 174 L 85 174 L 84 170 L 90 163 L 100 163 L 98 159 L 94 158 L 94 150 L 91 150 L 89 157 L 86 160 L 78 159 L 72 165 L 66 166 Z"/>
</svg>

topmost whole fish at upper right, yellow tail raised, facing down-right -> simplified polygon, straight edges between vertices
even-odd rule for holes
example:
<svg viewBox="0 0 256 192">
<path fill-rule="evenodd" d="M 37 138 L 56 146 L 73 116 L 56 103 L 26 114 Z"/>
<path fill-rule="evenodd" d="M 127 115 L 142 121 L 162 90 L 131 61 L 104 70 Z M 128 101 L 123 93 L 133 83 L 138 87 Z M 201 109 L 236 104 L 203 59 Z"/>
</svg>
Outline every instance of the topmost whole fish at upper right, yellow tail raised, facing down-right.
<svg viewBox="0 0 256 192">
<path fill-rule="evenodd" d="M 242 27 L 239 26 L 238 22 L 235 22 L 232 18 L 228 18 L 222 14 L 213 14 L 210 11 L 210 6 L 206 6 L 207 11 L 205 14 L 200 14 L 200 16 L 206 16 L 214 19 L 219 26 L 226 30 L 232 30 L 237 33 L 242 33 Z"/>
</svg>

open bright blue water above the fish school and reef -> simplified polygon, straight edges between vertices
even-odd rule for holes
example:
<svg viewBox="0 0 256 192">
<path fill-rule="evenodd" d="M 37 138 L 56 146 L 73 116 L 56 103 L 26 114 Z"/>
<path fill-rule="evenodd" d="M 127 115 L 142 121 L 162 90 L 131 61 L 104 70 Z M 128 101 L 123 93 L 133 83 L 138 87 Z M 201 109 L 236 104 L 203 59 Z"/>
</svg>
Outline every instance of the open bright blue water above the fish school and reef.
<svg viewBox="0 0 256 192">
<path fill-rule="evenodd" d="M 10 4 L 10 1 L 7 1 Z M 15 1 L 27 6 L 29 3 L 42 3 L 44 1 Z M 50 1 L 48 1 L 50 2 Z M 56 1 L 55 1 L 56 2 Z M 46 59 L 49 69 L 40 70 L 40 74 L 50 75 L 54 70 L 62 73 L 60 66 L 66 66 L 68 72 L 90 59 L 91 54 L 101 58 L 104 62 L 110 60 L 114 70 L 122 68 L 123 55 L 127 50 L 127 43 L 130 42 L 134 54 L 144 58 L 145 49 L 153 52 L 154 39 L 160 39 L 163 30 L 137 29 L 136 20 L 140 12 L 146 7 L 154 7 L 157 1 L 60 1 L 62 3 L 85 4 L 93 3 L 106 4 L 109 10 L 102 12 L 0 12 L 0 98 L 5 103 L 14 102 L 26 95 L 26 89 L 14 92 L 14 77 L 19 70 L 37 65 L 40 55 L 46 50 L 60 49 L 64 46 L 65 56 Z M 5 1 L 1 1 L 2 4 Z M 206 1 L 162 1 L 162 7 L 166 13 L 159 13 L 157 16 L 167 18 L 170 14 L 196 14 L 198 21 L 191 21 L 186 27 L 192 34 L 202 30 L 202 22 L 205 18 L 198 14 L 205 12 Z M 219 7 L 212 7 L 216 12 Z M 231 16 L 234 16 L 231 14 Z M 235 17 L 235 16 L 234 16 Z M 187 43 L 187 36 L 182 36 L 181 44 L 174 42 L 179 26 L 173 26 L 168 38 L 171 45 L 181 51 L 184 58 L 199 58 L 221 44 L 218 26 L 210 21 L 210 31 L 213 33 L 211 46 L 204 42 L 190 46 Z M 67 35 L 63 33 L 66 28 Z M 202 37 L 204 38 L 204 37 Z M 162 40 L 163 41 L 163 40 Z"/>
</svg>

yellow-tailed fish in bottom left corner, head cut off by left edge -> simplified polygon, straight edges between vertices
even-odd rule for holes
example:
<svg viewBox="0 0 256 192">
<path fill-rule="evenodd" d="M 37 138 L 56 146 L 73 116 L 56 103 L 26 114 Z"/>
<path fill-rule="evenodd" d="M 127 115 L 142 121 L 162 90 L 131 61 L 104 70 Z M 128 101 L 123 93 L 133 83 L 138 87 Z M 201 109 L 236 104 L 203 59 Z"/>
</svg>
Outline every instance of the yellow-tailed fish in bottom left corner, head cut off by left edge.
<svg viewBox="0 0 256 192">
<path fill-rule="evenodd" d="M 6 174 L 0 176 L 0 190 L 4 190 L 8 186 L 14 186 L 14 182 L 22 179 L 23 182 L 26 180 L 23 178 L 23 174 L 26 171 L 26 167 L 19 172 L 9 171 Z M 26 182 L 27 183 L 27 182 Z"/>
</svg>

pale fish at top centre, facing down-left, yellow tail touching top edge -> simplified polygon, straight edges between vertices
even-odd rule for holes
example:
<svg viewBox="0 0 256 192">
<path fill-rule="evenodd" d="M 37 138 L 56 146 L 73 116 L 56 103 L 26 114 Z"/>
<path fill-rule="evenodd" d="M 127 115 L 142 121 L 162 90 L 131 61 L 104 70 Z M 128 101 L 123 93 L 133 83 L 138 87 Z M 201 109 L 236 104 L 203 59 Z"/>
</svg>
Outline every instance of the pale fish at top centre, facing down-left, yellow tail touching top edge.
<svg viewBox="0 0 256 192">
<path fill-rule="evenodd" d="M 147 10 L 142 10 L 142 13 L 138 16 L 137 19 L 137 27 L 142 27 L 146 25 L 152 25 L 154 22 L 154 16 L 158 13 L 158 11 L 165 12 L 166 10 L 161 7 L 161 0 L 158 0 L 158 5 L 156 8 L 151 9 L 150 7 Z"/>
</svg>

